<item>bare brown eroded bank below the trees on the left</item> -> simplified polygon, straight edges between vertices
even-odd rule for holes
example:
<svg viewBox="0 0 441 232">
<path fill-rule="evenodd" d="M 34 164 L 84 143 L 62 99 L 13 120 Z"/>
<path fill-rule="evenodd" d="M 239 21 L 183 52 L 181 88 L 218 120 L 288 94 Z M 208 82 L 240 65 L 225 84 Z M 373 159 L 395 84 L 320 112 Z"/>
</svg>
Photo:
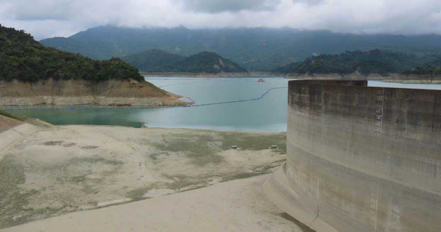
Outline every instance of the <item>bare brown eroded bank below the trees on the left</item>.
<svg viewBox="0 0 441 232">
<path fill-rule="evenodd" d="M 90 81 L 47 79 L 28 83 L 0 81 L 0 106 L 53 105 L 119 105 L 167 106 L 185 105 L 179 96 L 148 82 L 134 80 Z"/>
</svg>

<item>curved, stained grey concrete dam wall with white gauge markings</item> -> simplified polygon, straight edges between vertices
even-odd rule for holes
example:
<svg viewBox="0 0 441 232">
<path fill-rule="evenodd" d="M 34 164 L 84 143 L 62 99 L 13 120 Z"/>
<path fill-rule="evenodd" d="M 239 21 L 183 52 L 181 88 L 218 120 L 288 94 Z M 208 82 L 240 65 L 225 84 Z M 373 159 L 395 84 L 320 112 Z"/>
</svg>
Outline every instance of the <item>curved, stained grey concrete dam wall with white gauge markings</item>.
<svg viewBox="0 0 441 232">
<path fill-rule="evenodd" d="M 441 231 L 441 90 L 290 81 L 268 197 L 317 231 Z"/>
</svg>

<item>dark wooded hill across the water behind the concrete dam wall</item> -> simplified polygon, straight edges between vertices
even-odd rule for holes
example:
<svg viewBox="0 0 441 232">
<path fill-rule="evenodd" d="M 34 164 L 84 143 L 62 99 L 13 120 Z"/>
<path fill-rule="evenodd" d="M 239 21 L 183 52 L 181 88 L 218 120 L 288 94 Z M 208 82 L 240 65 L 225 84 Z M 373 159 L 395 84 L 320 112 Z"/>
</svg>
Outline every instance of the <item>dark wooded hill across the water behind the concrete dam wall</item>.
<svg viewBox="0 0 441 232">
<path fill-rule="evenodd" d="M 273 72 L 297 74 L 361 74 L 401 73 L 415 66 L 436 63 L 441 56 L 414 55 L 388 50 L 346 51 L 341 54 L 323 54 L 308 57 L 274 69 Z"/>
</svg>

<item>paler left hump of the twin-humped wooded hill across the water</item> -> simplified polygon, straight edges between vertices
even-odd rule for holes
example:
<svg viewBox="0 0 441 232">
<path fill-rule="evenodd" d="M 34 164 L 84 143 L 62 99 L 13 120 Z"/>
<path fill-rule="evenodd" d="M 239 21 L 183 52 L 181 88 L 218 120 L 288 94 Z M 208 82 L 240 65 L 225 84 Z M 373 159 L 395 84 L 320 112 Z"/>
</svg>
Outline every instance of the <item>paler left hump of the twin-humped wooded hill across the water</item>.
<svg viewBox="0 0 441 232">
<path fill-rule="evenodd" d="M 185 58 L 185 56 L 153 49 L 128 55 L 122 59 L 145 72 L 163 72 L 172 71 L 174 65 Z"/>
</svg>

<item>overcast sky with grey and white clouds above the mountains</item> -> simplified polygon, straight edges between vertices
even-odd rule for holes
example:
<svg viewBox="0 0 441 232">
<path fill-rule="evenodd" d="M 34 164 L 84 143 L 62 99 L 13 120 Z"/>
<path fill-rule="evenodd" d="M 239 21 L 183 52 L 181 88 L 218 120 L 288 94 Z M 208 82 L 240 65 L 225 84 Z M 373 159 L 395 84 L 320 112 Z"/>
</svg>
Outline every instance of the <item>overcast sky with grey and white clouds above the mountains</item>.
<svg viewBox="0 0 441 232">
<path fill-rule="evenodd" d="M 440 0 L 0 0 L 0 24 L 38 40 L 100 25 L 292 27 L 441 34 Z"/>
</svg>

